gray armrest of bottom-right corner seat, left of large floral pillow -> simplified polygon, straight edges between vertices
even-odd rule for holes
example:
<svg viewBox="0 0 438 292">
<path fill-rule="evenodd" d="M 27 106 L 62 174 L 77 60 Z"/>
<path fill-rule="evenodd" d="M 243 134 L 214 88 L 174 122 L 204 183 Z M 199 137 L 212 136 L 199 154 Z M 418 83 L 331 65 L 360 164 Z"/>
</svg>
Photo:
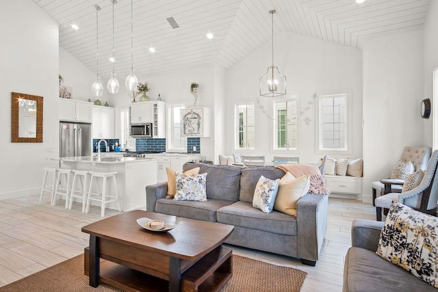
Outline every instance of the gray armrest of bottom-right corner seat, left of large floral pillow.
<svg viewBox="0 0 438 292">
<path fill-rule="evenodd" d="M 351 224 L 351 245 L 375 252 L 385 222 L 355 219 Z"/>
</svg>

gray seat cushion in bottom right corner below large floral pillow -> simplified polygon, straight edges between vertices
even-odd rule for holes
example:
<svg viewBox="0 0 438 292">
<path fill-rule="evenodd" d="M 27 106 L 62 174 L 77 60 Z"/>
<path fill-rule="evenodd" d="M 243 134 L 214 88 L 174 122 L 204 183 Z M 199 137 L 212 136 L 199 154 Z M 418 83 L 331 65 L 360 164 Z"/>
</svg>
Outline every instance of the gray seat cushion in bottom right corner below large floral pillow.
<svg viewBox="0 0 438 292">
<path fill-rule="evenodd" d="M 344 263 L 343 291 L 437 291 L 409 271 L 377 256 L 371 250 L 350 248 Z"/>
</svg>

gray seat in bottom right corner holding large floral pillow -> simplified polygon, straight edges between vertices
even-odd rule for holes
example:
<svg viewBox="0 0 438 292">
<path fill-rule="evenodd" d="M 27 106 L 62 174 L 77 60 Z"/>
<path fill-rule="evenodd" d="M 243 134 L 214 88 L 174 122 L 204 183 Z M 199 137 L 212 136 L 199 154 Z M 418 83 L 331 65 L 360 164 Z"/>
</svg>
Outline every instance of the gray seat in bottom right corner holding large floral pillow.
<svg viewBox="0 0 438 292">
<path fill-rule="evenodd" d="M 372 220 L 353 220 L 352 247 L 345 258 L 342 291 L 436 292 L 437 289 L 430 284 L 376 254 L 384 223 Z"/>
</svg>

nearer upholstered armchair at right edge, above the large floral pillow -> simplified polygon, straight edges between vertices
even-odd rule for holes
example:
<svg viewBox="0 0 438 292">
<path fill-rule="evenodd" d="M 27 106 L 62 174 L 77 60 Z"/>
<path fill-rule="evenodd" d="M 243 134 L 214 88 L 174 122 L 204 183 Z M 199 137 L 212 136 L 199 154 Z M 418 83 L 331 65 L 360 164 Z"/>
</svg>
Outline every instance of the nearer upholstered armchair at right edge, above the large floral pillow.
<svg viewBox="0 0 438 292">
<path fill-rule="evenodd" d="M 389 209 L 393 200 L 409 206 L 415 210 L 430 215 L 437 215 L 438 202 L 438 176 L 437 172 L 438 150 L 433 151 L 424 177 L 417 187 L 404 193 L 389 193 L 375 200 L 376 218 L 382 220 L 382 208 Z"/>
</svg>

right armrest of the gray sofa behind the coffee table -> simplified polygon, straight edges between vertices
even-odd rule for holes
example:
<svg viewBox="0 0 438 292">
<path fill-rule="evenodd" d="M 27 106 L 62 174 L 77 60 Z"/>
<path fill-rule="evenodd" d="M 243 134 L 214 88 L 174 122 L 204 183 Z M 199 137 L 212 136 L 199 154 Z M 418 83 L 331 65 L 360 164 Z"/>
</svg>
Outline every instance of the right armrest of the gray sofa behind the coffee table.
<svg viewBox="0 0 438 292">
<path fill-rule="evenodd" d="M 297 254 L 307 261 L 318 261 L 327 230 L 329 196 L 306 194 L 296 204 Z"/>
</svg>

